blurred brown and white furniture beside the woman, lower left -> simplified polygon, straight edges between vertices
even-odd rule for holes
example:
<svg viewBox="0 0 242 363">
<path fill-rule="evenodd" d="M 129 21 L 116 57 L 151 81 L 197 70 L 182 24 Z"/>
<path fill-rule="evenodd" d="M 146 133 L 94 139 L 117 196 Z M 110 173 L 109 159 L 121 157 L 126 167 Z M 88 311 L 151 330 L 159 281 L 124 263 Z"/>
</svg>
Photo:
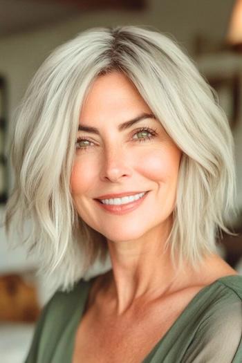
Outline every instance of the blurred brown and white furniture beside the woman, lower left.
<svg viewBox="0 0 242 363">
<path fill-rule="evenodd" d="M 35 272 L 0 275 L 0 362 L 23 363 L 39 317 Z"/>
</svg>

